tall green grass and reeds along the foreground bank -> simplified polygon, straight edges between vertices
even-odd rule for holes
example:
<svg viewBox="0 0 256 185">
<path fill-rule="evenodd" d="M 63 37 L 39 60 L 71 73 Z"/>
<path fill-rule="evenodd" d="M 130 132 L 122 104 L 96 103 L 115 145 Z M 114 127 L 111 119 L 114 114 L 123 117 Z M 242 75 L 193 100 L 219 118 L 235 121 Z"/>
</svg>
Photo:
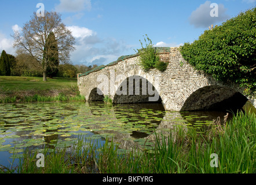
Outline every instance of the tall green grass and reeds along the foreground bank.
<svg viewBox="0 0 256 185">
<path fill-rule="evenodd" d="M 226 125 L 213 124 L 206 135 L 180 129 L 175 137 L 156 134 L 152 149 L 122 151 L 113 142 L 99 149 L 80 138 L 71 149 L 43 151 L 45 167 L 36 167 L 36 154 L 25 153 L 12 173 L 255 173 L 255 114 L 239 113 Z M 175 138 L 175 139 L 173 139 Z M 68 151 L 70 150 L 70 151 Z M 41 151 L 42 152 L 42 151 Z M 211 154 L 218 158 L 211 158 Z M 217 159 L 213 162 L 212 160 Z M 213 162 L 214 166 L 211 166 Z M 217 165 L 217 166 L 216 166 Z"/>
</svg>

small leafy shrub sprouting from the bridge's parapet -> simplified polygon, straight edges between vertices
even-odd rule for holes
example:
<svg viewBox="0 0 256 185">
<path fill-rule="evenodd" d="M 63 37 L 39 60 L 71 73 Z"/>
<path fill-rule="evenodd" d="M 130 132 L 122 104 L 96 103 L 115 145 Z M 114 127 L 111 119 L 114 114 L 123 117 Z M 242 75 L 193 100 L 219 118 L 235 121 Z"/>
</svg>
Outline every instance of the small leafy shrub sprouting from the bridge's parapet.
<svg viewBox="0 0 256 185">
<path fill-rule="evenodd" d="M 144 71 L 149 71 L 149 69 L 155 68 L 155 65 L 160 62 L 160 57 L 158 51 L 153 47 L 151 39 L 144 38 L 146 46 L 143 47 L 143 43 L 140 40 L 142 49 L 137 49 L 137 53 L 140 56 L 140 61 L 138 64 L 142 67 Z M 148 40 L 148 43 L 147 43 Z"/>
</svg>

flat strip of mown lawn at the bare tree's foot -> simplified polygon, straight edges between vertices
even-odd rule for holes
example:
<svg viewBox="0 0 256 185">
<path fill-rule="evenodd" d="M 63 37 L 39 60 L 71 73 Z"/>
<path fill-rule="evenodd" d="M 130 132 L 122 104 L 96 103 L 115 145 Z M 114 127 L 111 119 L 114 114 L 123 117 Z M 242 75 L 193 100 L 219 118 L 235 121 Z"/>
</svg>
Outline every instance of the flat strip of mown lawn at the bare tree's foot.
<svg viewBox="0 0 256 185">
<path fill-rule="evenodd" d="M 0 76 L 2 90 L 47 90 L 77 86 L 76 78 L 54 77 L 43 82 L 42 77 Z"/>
</svg>

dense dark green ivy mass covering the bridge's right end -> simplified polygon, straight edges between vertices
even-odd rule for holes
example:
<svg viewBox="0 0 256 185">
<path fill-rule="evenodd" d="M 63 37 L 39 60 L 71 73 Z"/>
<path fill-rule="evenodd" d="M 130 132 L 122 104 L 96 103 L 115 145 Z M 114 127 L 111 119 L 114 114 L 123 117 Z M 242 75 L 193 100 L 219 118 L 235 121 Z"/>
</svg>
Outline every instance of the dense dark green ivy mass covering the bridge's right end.
<svg viewBox="0 0 256 185">
<path fill-rule="evenodd" d="M 206 30 L 181 54 L 196 69 L 217 80 L 256 90 L 256 8 L 240 13 L 213 30 Z"/>
</svg>

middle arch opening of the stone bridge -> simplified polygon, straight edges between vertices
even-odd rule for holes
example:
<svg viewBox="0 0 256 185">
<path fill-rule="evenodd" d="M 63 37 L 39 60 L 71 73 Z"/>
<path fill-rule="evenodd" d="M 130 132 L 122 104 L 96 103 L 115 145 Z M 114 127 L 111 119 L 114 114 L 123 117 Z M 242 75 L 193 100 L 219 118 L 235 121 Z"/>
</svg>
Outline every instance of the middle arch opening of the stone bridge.
<svg viewBox="0 0 256 185">
<path fill-rule="evenodd" d="M 157 88 L 146 77 L 140 75 L 125 77 L 116 84 L 116 87 L 113 103 L 162 102 Z"/>
</svg>

